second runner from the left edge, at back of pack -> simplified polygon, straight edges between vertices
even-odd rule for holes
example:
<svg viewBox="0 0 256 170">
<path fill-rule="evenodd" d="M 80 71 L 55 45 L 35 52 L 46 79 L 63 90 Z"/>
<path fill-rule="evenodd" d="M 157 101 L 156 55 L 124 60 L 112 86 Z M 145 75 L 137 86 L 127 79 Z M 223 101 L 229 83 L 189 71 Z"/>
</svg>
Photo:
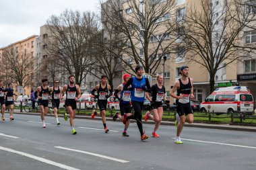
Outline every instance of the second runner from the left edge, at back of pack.
<svg viewBox="0 0 256 170">
<path fill-rule="evenodd" d="M 9 120 L 14 120 L 14 118 L 13 118 L 13 107 L 14 107 L 13 95 L 16 95 L 16 94 L 13 93 L 12 84 L 9 84 L 8 89 L 6 89 L 5 91 L 6 91 L 5 110 L 10 108 L 10 118 L 9 118 Z"/>
</svg>

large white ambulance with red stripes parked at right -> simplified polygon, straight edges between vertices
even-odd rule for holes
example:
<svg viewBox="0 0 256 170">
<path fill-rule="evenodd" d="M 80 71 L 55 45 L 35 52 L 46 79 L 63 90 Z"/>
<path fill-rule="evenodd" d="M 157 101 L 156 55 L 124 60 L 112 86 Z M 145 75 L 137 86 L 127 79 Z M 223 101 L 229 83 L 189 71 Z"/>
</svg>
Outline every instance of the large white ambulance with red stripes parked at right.
<svg viewBox="0 0 256 170">
<path fill-rule="evenodd" d="M 253 114 L 253 95 L 248 87 L 232 86 L 216 89 L 200 105 L 201 112 Z"/>
</svg>

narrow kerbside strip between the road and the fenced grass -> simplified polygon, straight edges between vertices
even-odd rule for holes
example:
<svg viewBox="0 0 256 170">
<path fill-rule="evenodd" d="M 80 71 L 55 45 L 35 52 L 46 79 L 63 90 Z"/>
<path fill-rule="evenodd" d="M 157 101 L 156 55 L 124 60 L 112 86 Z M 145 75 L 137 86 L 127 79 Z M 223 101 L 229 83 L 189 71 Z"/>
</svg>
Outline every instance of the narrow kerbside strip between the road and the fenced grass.
<svg viewBox="0 0 256 170">
<path fill-rule="evenodd" d="M 19 112 L 19 110 L 14 110 L 14 114 L 26 114 L 26 115 L 37 115 L 39 113 L 26 113 L 26 112 Z M 48 116 L 54 116 L 48 115 Z M 59 117 L 63 117 L 63 115 L 59 114 Z M 84 115 L 76 115 L 75 118 L 78 119 L 90 119 L 92 120 L 91 116 L 84 116 Z M 93 120 L 101 120 L 99 116 L 96 116 Z M 106 118 L 107 121 L 113 121 L 113 118 Z M 117 122 L 119 120 L 117 119 Z M 135 122 L 135 120 L 131 120 L 131 122 Z M 154 124 L 154 121 L 148 120 L 147 122 L 143 121 L 143 124 Z M 174 122 L 163 120 L 161 125 L 168 125 L 174 126 Z M 212 129 L 221 129 L 221 130 L 238 130 L 238 131 L 245 131 L 245 132 L 256 132 L 256 126 L 239 126 L 239 125 L 230 125 L 230 124 L 207 124 L 207 123 L 193 123 L 193 124 L 185 124 L 186 127 L 192 128 L 212 128 Z"/>
</svg>

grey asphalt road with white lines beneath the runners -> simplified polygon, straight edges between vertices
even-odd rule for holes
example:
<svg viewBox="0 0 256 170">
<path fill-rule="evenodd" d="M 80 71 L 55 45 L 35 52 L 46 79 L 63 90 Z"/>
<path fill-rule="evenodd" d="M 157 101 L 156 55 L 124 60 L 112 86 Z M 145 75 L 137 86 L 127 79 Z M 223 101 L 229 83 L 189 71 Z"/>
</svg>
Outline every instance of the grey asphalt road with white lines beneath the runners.
<svg viewBox="0 0 256 170">
<path fill-rule="evenodd" d="M 9 116 L 9 115 L 7 115 Z M 0 169 L 256 169 L 255 132 L 183 128 L 183 144 L 175 144 L 174 126 L 160 126 L 160 138 L 141 142 L 136 124 L 129 137 L 121 136 L 121 122 L 107 122 L 105 134 L 99 120 L 69 122 L 40 116 L 15 115 L 0 122 Z M 146 134 L 154 126 L 143 124 Z"/>
</svg>

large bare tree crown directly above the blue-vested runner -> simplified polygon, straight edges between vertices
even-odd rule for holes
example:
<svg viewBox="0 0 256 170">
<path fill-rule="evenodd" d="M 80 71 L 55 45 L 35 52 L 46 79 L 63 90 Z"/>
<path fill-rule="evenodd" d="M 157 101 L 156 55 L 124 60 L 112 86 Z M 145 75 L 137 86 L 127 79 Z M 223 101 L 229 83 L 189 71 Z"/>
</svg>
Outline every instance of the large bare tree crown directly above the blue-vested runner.
<svg viewBox="0 0 256 170">
<path fill-rule="evenodd" d="M 142 65 L 146 73 L 154 74 L 160 65 L 162 56 L 168 54 L 172 44 L 170 34 L 171 11 L 174 0 L 108 0 L 102 3 L 103 28 L 115 29 L 115 36 L 121 42 L 111 49 L 122 54 L 121 60 L 125 71 L 134 70 L 135 65 Z M 128 58 L 128 59 L 127 59 Z"/>
</svg>

